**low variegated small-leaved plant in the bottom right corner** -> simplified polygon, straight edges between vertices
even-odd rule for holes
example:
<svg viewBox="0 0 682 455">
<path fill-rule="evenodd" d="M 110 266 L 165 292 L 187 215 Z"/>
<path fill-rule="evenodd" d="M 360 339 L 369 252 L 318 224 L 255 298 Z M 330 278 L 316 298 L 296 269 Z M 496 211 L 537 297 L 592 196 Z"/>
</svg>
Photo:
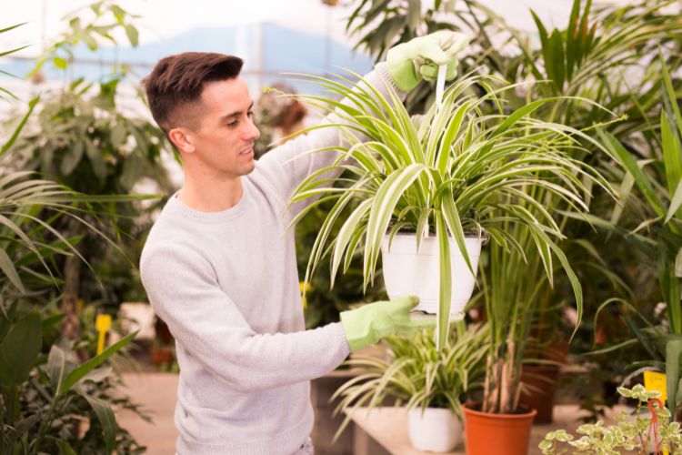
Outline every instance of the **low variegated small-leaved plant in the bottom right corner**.
<svg viewBox="0 0 682 455">
<path fill-rule="evenodd" d="M 551 431 L 540 442 L 542 453 L 610 455 L 622 453 L 623 450 L 637 450 L 637 453 L 647 454 L 652 446 L 657 448 L 656 453 L 663 453 L 662 450 L 671 454 L 682 452 L 679 423 L 670 422 L 670 412 L 657 400 L 660 392 L 647 391 L 641 384 L 637 384 L 632 389 L 620 387 L 618 393 L 628 399 L 637 399 L 634 419 L 633 414 L 624 410 L 617 416 L 615 425 L 605 427 L 601 420 L 581 425 L 576 431 L 584 436 L 578 440 L 574 440 L 573 435 L 566 430 Z M 652 400 L 657 400 L 658 405 L 650 404 Z M 563 449 L 565 445 L 571 447 L 570 452 Z"/>
</svg>

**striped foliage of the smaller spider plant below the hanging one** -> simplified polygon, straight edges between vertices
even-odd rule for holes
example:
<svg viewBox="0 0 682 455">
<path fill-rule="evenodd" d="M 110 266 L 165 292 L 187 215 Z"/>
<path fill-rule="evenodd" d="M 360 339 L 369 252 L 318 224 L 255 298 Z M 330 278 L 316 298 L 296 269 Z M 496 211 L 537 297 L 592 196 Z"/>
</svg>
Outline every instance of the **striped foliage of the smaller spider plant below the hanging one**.
<svg viewBox="0 0 682 455">
<path fill-rule="evenodd" d="M 407 410 L 444 408 L 462 420 L 461 399 L 470 389 L 480 386 L 485 375 L 488 326 L 458 321 L 445 349 L 436 349 L 432 330 L 412 338 L 388 337 L 382 345 L 383 356 L 357 356 L 346 361 L 357 376 L 336 390 L 340 399 L 335 415 L 344 410 L 346 419 L 336 432 L 341 434 L 360 407 L 381 406 L 386 399 L 395 405 L 405 403 Z"/>
</svg>

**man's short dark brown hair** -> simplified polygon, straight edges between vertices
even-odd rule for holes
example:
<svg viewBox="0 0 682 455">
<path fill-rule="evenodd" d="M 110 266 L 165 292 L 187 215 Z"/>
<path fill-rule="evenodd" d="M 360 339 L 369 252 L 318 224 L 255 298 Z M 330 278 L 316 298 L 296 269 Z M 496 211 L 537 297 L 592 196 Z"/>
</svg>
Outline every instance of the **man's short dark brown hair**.
<svg viewBox="0 0 682 455">
<path fill-rule="evenodd" d="M 168 134 L 190 119 L 189 108 L 201 99 L 204 85 L 239 76 L 243 61 L 212 52 L 185 52 L 159 60 L 142 80 L 149 109 L 158 126 Z"/>
</svg>

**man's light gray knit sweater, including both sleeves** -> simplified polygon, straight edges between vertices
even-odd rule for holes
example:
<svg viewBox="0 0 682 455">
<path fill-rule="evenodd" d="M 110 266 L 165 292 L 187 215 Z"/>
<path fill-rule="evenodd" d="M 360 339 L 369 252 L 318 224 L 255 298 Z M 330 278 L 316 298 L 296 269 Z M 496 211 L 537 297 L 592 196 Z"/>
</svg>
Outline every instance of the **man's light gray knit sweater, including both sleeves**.
<svg viewBox="0 0 682 455">
<path fill-rule="evenodd" d="M 366 80 L 392 84 L 383 65 Z M 397 90 L 397 89 L 396 89 Z M 171 197 L 140 259 L 149 301 L 176 338 L 180 455 L 290 455 L 313 428 L 310 379 L 346 358 L 343 327 L 306 330 L 294 230 L 296 186 L 336 152 L 324 128 L 276 147 L 242 178 L 244 196 L 222 212 Z M 296 159 L 292 159 L 297 157 Z"/>
</svg>

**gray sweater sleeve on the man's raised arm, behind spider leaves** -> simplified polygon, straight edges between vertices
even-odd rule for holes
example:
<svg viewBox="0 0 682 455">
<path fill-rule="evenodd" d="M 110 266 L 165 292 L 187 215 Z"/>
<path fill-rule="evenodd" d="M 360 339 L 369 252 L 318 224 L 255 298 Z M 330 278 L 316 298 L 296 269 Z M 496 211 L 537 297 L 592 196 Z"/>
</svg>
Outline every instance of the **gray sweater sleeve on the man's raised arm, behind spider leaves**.
<svg viewBox="0 0 682 455">
<path fill-rule="evenodd" d="M 386 71 L 386 64 L 380 63 L 376 69 L 363 77 L 367 84 L 376 91 L 388 96 L 389 86 L 404 97 Z M 346 100 L 342 100 L 342 103 Z M 340 118 L 334 114 L 327 116 L 323 122 L 338 123 Z M 273 187 L 285 201 L 288 201 L 296 187 L 310 174 L 318 169 L 331 166 L 340 152 L 329 150 L 319 153 L 309 153 L 323 147 L 336 147 L 342 144 L 342 135 L 338 128 L 320 128 L 304 136 L 297 136 L 282 146 L 270 150 L 258 161 L 258 167 L 266 174 Z M 326 177 L 337 177 L 334 173 Z M 295 210 L 296 213 L 296 210 Z"/>
</svg>

